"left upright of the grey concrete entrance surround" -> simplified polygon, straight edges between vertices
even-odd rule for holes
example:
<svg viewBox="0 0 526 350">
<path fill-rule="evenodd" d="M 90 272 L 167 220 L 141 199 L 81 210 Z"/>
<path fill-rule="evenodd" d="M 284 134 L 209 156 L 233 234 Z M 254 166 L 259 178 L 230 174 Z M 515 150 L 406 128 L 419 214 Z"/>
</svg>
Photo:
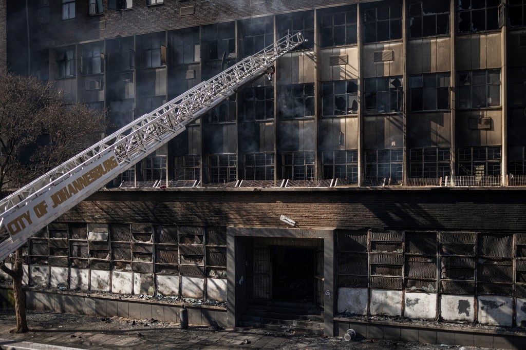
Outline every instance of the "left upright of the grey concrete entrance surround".
<svg viewBox="0 0 526 350">
<path fill-rule="evenodd" d="M 227 231 L 227 326 L 235 327 L 247 306 L 247 238 Z"/>
</svg>

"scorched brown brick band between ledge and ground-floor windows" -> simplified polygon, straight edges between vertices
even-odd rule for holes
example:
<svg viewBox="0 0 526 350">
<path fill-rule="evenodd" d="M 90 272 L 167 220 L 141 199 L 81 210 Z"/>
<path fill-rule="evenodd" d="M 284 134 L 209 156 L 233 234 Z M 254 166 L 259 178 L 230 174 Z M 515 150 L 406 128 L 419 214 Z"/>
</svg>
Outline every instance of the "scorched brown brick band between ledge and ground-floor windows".
<svg viewBox="0 0 526 350">
<path fill-rule="evenodd" d="M 299 228 L 526 231 L 523 190 L 135 190 L 98 192 L 60 220 Z"/>
</svg>

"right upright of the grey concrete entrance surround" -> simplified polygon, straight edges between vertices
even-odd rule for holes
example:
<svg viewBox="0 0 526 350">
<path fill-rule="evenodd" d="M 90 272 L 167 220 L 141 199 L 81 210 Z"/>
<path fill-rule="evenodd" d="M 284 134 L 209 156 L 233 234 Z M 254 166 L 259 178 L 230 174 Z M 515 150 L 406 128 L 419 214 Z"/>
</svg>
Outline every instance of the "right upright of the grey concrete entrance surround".
<svg viewBox="0 0 526 350">
<path fill-rule="evenodd" d="M 333 336 L 336 302 L 336 230 L 330 238 L 323 239 L 323 328 L 326 336 Z"/>
</svg>

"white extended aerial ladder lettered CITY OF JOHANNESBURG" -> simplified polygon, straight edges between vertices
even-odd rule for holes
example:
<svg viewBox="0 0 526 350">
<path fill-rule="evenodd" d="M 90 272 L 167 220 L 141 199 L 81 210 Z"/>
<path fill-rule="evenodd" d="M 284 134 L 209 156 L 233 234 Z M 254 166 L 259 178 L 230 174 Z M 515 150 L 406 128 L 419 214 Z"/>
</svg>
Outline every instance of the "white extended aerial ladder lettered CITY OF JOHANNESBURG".
<svg viewBox="0 0 526 350">
<path fill-rule="evenodd" d="M 304 41 L 301 33 L 279 39 L 0 200 L 0 261 L 239 88 L 273 73 L 273 63 Z"/>
</svg>

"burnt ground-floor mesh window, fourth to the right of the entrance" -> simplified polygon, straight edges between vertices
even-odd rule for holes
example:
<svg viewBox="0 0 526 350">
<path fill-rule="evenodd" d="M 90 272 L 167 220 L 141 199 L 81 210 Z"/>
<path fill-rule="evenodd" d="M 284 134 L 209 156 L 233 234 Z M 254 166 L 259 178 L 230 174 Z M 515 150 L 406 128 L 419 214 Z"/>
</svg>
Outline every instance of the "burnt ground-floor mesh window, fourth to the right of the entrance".
<svg viewBox="0 0 526 350">
<path fill-rule="evenodd" d="M 473 232 L 440 232 L 440 292 L 474 294 L 475 240 Z"/>
</svg>

